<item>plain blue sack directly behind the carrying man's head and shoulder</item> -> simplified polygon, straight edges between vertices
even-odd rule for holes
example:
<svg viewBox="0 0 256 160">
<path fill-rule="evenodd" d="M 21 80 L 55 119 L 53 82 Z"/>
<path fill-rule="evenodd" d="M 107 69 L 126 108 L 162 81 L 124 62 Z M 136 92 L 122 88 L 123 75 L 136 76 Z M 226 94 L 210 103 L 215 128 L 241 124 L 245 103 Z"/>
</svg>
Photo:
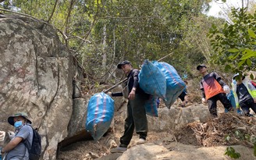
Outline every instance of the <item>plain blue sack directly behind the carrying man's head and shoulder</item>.
<svg viewBox="0 0 256 160">
<path fill-rule="evenodd" d="M 139 84 L 140 88 L 147 94 L 151 94 L 165 100 L 165 75 L 157 66 L 153 65 L 153 63 L 148 60 L 145 60 L 141 66 Z"/>
</svg>

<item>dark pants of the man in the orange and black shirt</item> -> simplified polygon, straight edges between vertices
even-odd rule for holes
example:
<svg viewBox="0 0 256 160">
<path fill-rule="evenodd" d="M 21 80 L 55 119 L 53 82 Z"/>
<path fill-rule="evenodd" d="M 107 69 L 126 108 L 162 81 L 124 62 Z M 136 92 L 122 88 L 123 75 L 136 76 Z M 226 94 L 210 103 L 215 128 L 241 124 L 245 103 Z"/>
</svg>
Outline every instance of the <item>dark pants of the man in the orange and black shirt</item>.
<svg viewBox="0 0 256 160">
<path fill-rule="evenodd" d="M 224 108 L 226 108 L 228 111 L 232 110 L 232 105 L 228 98 L 226 98 L 226 94 L 216 94 L 212 98 L 209 98 L 207 103 L 208 103 L 208 108 L 212 116 L 218 116 L 217 115 L 217 101 L 221 101 L 222 105 L 224 105 Z"/>
</svg>

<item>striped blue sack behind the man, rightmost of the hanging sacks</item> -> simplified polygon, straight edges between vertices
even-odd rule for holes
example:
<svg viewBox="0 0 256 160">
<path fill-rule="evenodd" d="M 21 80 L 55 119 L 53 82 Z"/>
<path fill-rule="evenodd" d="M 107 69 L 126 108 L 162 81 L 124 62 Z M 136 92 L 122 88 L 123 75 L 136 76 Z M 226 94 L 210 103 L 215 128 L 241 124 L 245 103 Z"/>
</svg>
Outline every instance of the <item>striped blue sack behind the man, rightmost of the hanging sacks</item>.
<svg viewBox="0 0 256 160">
<path fill-rule="evenodd" d="M 166 101 L 167 108 L 171 108 L 172 104 L 176 101 L 179 95 L 182 93 L 186 84 L 177 73 L 176 69 L 169 65 L 167 62 L 154 61 L 153 64 L 164 73 L 166 79 Z"/>
</svg>

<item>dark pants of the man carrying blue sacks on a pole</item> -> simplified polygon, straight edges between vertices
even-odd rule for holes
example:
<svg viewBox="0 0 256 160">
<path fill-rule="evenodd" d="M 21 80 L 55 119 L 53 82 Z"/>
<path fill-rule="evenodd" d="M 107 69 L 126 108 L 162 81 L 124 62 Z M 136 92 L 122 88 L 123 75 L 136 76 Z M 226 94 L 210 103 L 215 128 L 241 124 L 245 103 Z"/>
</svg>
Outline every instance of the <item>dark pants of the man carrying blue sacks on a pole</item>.
<svg viewBox="0 0 256 160">
<path fill-rule="evenodd" d="M 133 130 L 135 127 L 136 133 L 140 138 L 146 139 L 148 133 L 148 120 L 144 103 L 148 96 L 143 94 L 136 94 L 133 100 L 128 101 L 126 120 L 124 123 L 124 133 L 120 138 L 120 147 L 127 147 L 133 137 Z"/>
</svg>

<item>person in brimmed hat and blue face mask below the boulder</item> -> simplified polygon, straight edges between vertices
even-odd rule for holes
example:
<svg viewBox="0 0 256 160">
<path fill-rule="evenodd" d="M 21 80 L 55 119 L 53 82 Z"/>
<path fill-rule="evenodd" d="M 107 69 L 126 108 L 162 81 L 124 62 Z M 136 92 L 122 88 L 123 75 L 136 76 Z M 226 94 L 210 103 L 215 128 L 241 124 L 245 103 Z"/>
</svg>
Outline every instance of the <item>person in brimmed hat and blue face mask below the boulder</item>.
<svg viewBox="0 0 256 160">
<path fill-rule="evenodd" d="M 23 143 L 24 140 L 28 140 L 32 144 L 33 140 L 33 130 L 30 127 L 31 121 L 28 119 L 27 113 L 18 112 L 13 116 L 9 116 L 8 123 L 15 127 L 15 132 L 9 143 L 1 149 L 4 159 L 29 160 L 28 149 Z M 11 137 L 10 133 L 9 137 Z"/>
</svg>

